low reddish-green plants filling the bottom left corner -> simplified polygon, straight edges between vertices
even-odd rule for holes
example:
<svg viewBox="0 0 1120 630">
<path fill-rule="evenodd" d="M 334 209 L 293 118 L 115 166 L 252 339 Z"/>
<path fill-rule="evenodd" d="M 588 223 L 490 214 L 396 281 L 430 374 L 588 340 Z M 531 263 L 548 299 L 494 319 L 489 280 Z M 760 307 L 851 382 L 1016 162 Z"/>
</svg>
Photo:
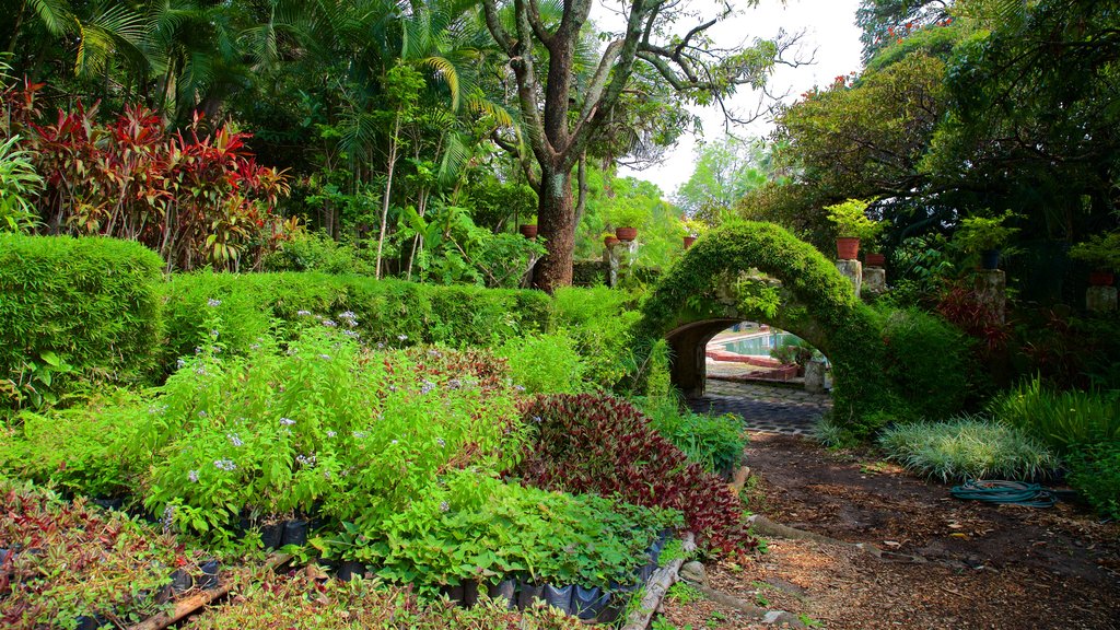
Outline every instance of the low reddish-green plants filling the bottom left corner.
<svg viewBox="0 0 1120 630">
<path fill-rule="evenodd" d="M 0 499 L 3 628 L 75 628 L 82 617 L 131 626 L 164 608 L 156 595 L 174 571 L 200 574 L 200 552 L 123 512 L 2 479 Z"/>
</svg>

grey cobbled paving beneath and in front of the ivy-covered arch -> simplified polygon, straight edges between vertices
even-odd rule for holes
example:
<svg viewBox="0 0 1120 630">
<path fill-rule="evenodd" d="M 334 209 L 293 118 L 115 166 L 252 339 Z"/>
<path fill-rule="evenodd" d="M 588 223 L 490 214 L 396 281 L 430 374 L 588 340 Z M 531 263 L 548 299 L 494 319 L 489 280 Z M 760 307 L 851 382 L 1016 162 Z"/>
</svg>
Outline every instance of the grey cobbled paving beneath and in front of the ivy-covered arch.
<svg viewBox="0 0 1120 630">
<path fill-rule="evenodd" d="M 750 430 L 809 435 L 832 407 L 828 395 L 767 385 L 708 379 L 703 398 L 689 400 L 693 411 L 734 414 Z"/>
</svg>

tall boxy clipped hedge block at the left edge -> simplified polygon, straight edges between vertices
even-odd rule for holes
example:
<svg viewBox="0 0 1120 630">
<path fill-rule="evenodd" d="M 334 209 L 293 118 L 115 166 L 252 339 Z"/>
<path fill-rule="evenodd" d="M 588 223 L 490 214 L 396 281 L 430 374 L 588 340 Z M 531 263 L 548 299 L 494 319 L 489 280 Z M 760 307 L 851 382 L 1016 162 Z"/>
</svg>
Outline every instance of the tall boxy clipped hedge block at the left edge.
<svg viewBox="0 0 1120 630">
<path fill-rule="evenodd" d="M 161 267 L 133 242 L 0 234 L 0 409 L 147 378 Z"/>
</svg>

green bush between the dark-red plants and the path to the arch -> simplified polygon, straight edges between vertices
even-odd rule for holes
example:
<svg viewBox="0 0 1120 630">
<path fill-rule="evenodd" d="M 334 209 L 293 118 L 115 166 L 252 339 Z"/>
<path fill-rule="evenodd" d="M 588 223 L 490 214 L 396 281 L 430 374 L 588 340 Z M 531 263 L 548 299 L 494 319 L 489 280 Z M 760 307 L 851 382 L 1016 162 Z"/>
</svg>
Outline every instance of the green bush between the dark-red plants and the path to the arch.
<svg viewBox="0 0 1120 630">
<path fill-rule="evenodd" d="M 638 407 L 654 430 L 708 472 L 727 474 L 743 461 L 747 438 L 736 416 L 693 414 L 671 397 L 643 398 Z"/>
</svg>

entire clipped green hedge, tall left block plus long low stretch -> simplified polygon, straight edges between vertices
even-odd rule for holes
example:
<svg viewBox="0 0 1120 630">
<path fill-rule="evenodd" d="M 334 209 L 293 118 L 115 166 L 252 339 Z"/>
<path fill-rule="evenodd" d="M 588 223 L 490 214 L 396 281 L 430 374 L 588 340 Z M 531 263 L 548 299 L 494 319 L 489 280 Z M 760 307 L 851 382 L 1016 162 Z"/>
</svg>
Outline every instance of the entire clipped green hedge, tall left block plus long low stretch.
<svg viewBox="0 0 1120 630">
<path fill-rule="evenodd" d="M 239 352 L 284 322 L 347 313 L 371 343 L 468 346 L 541 332 L 552 316 L 539 291 L 315 272 L 165 281 L 161 269 L 134 242 L 0 234 L 0 410 L 158 379 L 216 328 Z"/>
</svg>

